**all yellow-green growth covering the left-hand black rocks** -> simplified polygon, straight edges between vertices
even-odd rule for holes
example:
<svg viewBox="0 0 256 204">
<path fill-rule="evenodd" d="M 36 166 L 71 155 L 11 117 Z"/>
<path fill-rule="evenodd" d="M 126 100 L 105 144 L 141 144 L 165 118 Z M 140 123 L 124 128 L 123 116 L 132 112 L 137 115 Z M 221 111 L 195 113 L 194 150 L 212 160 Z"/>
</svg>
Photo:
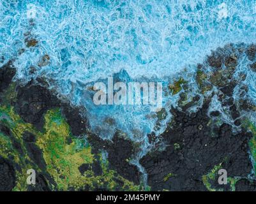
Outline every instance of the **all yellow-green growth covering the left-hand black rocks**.
<svg viewBox="0 0 256 204">
<path fill-rule="evenodd" d="M 85 138 L 76 138 L 72 136 L 70 128 L 66 120 L 62 117 L 59 109 L 49 110 L 45 115 L 44 131 L 40 132 L 33 128 L 32 124 L 28 124 L 20 119 L 11 106 L 0 106 L 0 122 L 10 128 L 11 135 L 20 143 L 24 156 L 21 156 L 17 150 L 13 149 L 11 140 L 8 136 L 0 133 L 0 155 L 3 157 L 13 156 L 13 161 L 19 164 L 21 172 L 16 171 L 17 181 L 13 191 L 26 191 L 27 170 L 33 168 L 41 172 L 41 170 L 33 165 L 33 161 L 29 158 L 22 135 L 25 131 L 29 131 L 36 136 L 36 145 L 43 152 L 43 159 L 47 164 L 47 173 L 54 179 L 57 186 L 51 186 L 52 190 L 83 189 L 89 186 L 89 190 L 95 187 L 105 188 L 109 191 L 141 191 L 146 190 L 143 185 L 136 186 L 109 169 L 107 159 L 103 161 L 102 156 L 97 157 L 91 153 L 91 146 L 86 142 Z M 67 142 L 71 138 L 71 142 Z M 102 167 L 102 175 L 94 175 L 89 169 L 81 175 L 79 166 L 81 164 L 92 164 L 100 157 L 100 165 Z M 29 164 L 25 160 L 30 161 Z M 119 186 L 116 180 L 121 180 L 123 186 Z M 148 189 L 148 187 L 147 187 Z"/>
</svg>

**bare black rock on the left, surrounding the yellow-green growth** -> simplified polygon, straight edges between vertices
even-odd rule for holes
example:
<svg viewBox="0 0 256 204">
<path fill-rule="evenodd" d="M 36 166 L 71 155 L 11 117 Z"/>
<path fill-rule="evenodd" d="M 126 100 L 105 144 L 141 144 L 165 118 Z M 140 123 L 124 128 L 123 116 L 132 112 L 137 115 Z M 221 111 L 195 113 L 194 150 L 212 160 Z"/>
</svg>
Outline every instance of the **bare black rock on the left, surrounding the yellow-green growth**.
<svg viewBox="0 0 256 204">
<path fill-rule="evenodd" d="M 124 140 L 123 138 L 119 138 L 118 135 L 114 136 L 113 141 L 105 141 L 101 140 L 98 136 L 93 135 L 87 130 L 87 121 L 81 115 L 81 108 L 76 108 L 71 106 L 68 102 L 61 101 L 57 98 L 57 96 L 49 91 L 47 87 L 43 85 L 39 85 L 38 82 L 29 82 L 24 86 L 18 85 L 15 82 L 11 82 L 12 78 L 15 75 L 15 68 L 12 68 L 11 62 L 6 64 L 3 68 L 0 69 L 1 76 L 1 101 L 5 101 L 6 93 L 5 90 L 8 89 L 11 85 L 14 85 L 13 91 L 15 91 L 15 97 L 11 98 L 8 103 L 10 106 L 13 106 L 13 110 L 17 115 L 20 116 L 24 122 L 32 124 L 33 127 L 37 131 L 44 132 L 45 131 L 45 114 L 47 111 L 52 110 L 54 108 L 59 108 L 61 111 L 61 115 L 66 120 L 68 126 L 70 127 L 70 133 L 72 136 L 76 138 L 80 138 L 82 135 L 87 135 L 87 140 L 90 142 L 91 154 L 94 154 L 94 162 L 92 164 L 81 164 L 79 166 L 79 171 L 84 174 L 84 171 L 93 171 L 95 176 L 103 175 L 102 173 L 102 165 L 100 164 L 100 156 L 98 156 L 101 150 L 105 149 L 108 152 L 108 161 L 109 161 L 109 169 L 113 169 L 119 175 L 121 175 L 122 179 L 128 179 L 131 182 L 134 182 L 134 186 L 140 185 L 140 173 L 135 166 L 128 163 L 127 159 L 130 158 L 133 154 L 132 150 L 132 142 L 128 140 Z M 40 80 L 40 79 L 38 79 Z M 1 104 L 2 105 L 2 104 Z M 4 135 L 13 137 L 11 129 L 8 128 L 1 120 L 1 133 Z M 39 171 L 44 171 L 44 173 L 39 173 L 36 179 L 36 182 L 39 183 L 36 186 L 29 186 L 27 190 L 33 191 L 49 191 L 49 190 L 62 190 L 58 189 L 56 186 L 56 182 L 52 179 L 47 172 L 47 164 L 43 158 L 42 150 L 36 145 L 36 136 L 29 131 L 24 131 L 23 135 L 24 148 L 26 149 L 27 154 L 29 155 L 31 162 L 34 162 L 36 166 L 38 166 Z M 15 139 L 13 139 L 15 140 Z M 67 144 L 72 143 L 72 138 L 68 138 L 68 141 L 65 141 Z M 13 146 L 15 144 L 19 147 L 17 149 L 19 152 L 22 152 L 21 144 L 18 141 L 13 142 Z M 56 144 L 57 145 L 57 144 Z M 1 155 L 1 154 L 0 154 Z M 20 157 L 24 156 L 24 154 L 20 154 Z M 21 167 L 19 164 L 13 164 L 10 158 L 1 157 L 3 160 L 3 164 L 0 168 L 3 173 L 10 175 L 13 180 L 12 184 L 15 184 L 15 170 Z M 2 161 L 1 160 L 1 161 Z M 74 161 L 75 162 L 75 161 Z M 15 165 L 15 166 L 13 166 Z M 13 173 L 14 172 L 14 173 Z M 117 173 L 114 173 L 117 175 Z M 10 191 L 13 189 L 13 185 L 10 187 L 5 184 L 6 180 L 4 179 L 5 174 L 3 174 L 3 182 L 1 182 L 0 190 Z M 2 174 L 1 174 L 2 175 Z M 123 180 L 119 179 L 120 176 L 114 175 L 116 179 L 117 186 L 124 185 Z M 7 177 L 6 177 L 7 178 Z M 0 179 L 0 180 L 1 180 Z M 9 179 L 10 180 L 10 179 Z M 25 182 L 25 181 L 24 181 Z M 53 187 L 50 187 L 53 186 Z M 94 185 L 93 185 L 94 186 Z M 94 190 L 96 191 L 98 187 L 80 186 L 79 190 Z M 97 186 L 97 185 L 96 185 Z M 107 185 L 105 185 L 107 186 Z M 127 188 L 127 187 L 126 187 Z M 124 188 L 124 189 L 126 189 Z M 72 186 L 70 187 L 72 190 Z M 107 187 L 100 187 L 102 190 L 118 190 L 119 187 L 115 189 L 109 189 Z M 121 187 L 120 187 L 121 189 Z M 75 190 L 75 189 L 73 189 Z M 126 189 L 128 190 L 128 189 Z"/>
</svg>

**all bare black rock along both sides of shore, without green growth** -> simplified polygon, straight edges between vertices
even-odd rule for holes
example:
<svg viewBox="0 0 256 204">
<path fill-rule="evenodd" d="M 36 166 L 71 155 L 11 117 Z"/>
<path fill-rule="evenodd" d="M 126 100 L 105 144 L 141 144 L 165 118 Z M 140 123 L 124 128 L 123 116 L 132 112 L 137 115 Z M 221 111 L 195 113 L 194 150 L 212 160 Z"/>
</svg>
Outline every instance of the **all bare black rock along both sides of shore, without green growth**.
<svg viewBox="0 0 256 204">
<path fill-rule="evenodd" d="M 255 50 L 255 45 L 251 45 L 246 51 L 251 61 L 255 59 Z M 227 46 L 227 48 L 220 48 L 207 58 L 204 66 L 211 66 L 211 71 L 209 73 L 203 72 L 201 77 L 207 83 L 211 82 L 211 88 L 215 86 L 218 89 L 218 91 L 213 89 L 209 98 L 216 94 L 222 107 L 224 106 L 225 113 L 229 114 L 230 118 L 234 120 L 234 125 L 241 126 L 243 120 L 241 115 L 243 114 L 240 114 L 239 110 L 253 110 L 255 106 L 251 105 L 250 101 L 246 101 L 246 97 L 242 97 L 242 95 L 246 96 L 248 87 L 239 87 L 239 82 L 236 82 L 233 78 L 234 68 L 237 66 L 238 59 L 239 55 L 237 55 L 232 45 Z M 252 64 L 252 66 L 251 68 L 253 69 L 255 65 Z M 200 69 L 204 70 L 204 68 L 202 65 Z M 206 73 L 209 74 L 209 78 L 204 76 Z M 0 92 L 8 88 L 14 76 L 15 69 L 11 68 L 11 64 L 6 64 L 0 69 Z M 243 75 L 237 80 L 244 80 L 245 76 Z M 18 85 L 17 87 L 17 100 L 13 101 L 12 105 L 15 106 L 15 111 L 19 113 L 20 117 L 43 131 L 45 113 L 51 108 L 58 107 L 61 108 L 61 113 L 70 125 L 73 135 L 79 136 L 86 133 L 87 120 L 80 115 L 85 110 L 80 107 L 73 107 L 70 103 L 58 99 L 54 92 L 49 91 L 47 82 L 43 78 L 37 80 L 37 82 L 40 85 L 30 82 L 25 86 Z M 202 87 L 206 85 L 203 84 Z M 232 98 L 236 86 L 239 91 L 244 89 L 243 92 L 240 92 L 240 96 L 244 101 L 238 101 L 238 103 Z M 211 89 L 207 90 L 211 91 Z M 186 100 L 187 95 L 185 92 L 183 96 L 179 102 Z M 185 105 L 180 105 L 182 103 L 179 103 L 179 108 L 181 109 L 171 110 L 174 118 L 165 132 L 160 135 L 160 141 L 163 141 L 166 148 L 164 150 L 154 149 L 140 160 L 147 172 L 148 184 L 152 190 L 206 191 L 202 176 L 211 172 L 214 166 L 220 163 L 222 163 L 222 168 L 227 170 L 229 177 L 246 178 L 252 173 L 252 162 L 248 153 L 250 152 L 248 141 L 252 138 L 252 134 L 247 133 L 243 128 L 234 133 L 233 130 L 235 128 L 232 129 L 232 126 L 225 123 L 217 126 L 220 112 L 211 112 L 211 117 L 208 117 L 209 101 L 206 98 L 204 98 L 202 108 L 199 108 L 196 113 L 188 113 L 188 108 L 199 105 L 200 99 L 201 95 L 198 95 Z M 31 160 L 43 170 L 43 173 L 36 174 L 36 183 L 38 185 L 29 186 L 28 190 L 48 191 L 47 182 L 54 183 L 54 181 L 45 172 L 46 164 L 43 161 L 41 150 L 34 143 L 36 137 L 29 132 L 25 132 L 22 135 L 25 146 L 20 147 L 20 143 L 13 139 L 12 133 L 7 126 L 0 124 L 0 131 L 6 136 L 10 136 L 13 147 L 20 152 L 20 156 L 23 154 L 22 148 L 24 150 L 27 149 Z M 158 141 L 154 133 L 148 136 L 151 143 Z M 72 139 L 68 138 L 67 141 L 71 143 Z M 111 169 L 116 170 L 125 179 L 135 184 L 140 184 L 141 173 L 137 166 L 129 162 L 135 154 L 134 144 L 129 139 L 116 134 L 112 141 L 109 141 L 102 140 L 96 135 L 91 135 L 88 141 L 92 147 L 93 154 L 99 154 L 102 150 L 107 152 Z M 156 143 L 156 147 L 163 147 L 162 143 Z M 8 190 L 13 188 L 13 180 L 15 183 L 14 169 L 17 170 L 18 168 L 11 159 L 13 159 L 11 156 L 10 160 L 0 157 L 0 187 Z M 94 175 L 102 175 L 102 167 L 98 160 L 96 159 L 92 164 L 79 166 L 80 173 L 84 174 L 87 170 L 93 170 Z M 6 180 L 3 179 L 3 175 L 8 179 L 11 178 L 10 184 L 7 184 Z M 116 178 L 116 182 L 123 186 L 123 181 Z M 216 180 L 211 180 L 210 183 L 212 187 L 217 189 L 230 189 L 229 185 L 225 187 L 219 186 Z M 56 185 L 54 184 L 54 186 Z M 95 190 L 107 190 L 107 184 L 101 187 L 97 186 L 98 184 L 93 184 Z M 70 189 L 73 188 L 70 187 Z M 84 189 L 92 189 L 92 186 L 85 186 Z M 236 189 L 237 191 L 255 191 L 255 182 L 241 179 L 236 183 Z"/>
</svg>

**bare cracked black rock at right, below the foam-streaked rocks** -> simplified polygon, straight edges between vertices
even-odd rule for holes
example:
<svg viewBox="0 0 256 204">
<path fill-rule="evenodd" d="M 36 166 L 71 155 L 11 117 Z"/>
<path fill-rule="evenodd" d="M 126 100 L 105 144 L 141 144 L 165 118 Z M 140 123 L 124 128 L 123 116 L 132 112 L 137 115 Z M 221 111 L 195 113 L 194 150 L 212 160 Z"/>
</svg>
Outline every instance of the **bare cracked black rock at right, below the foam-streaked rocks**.
<svg viewBox="0 0 256 204">
<path fill-rule="evenodd" d="M 140 160 L 152 190 L 205 191 L 202 175 L 220 163 L 229 177 L 246 177 L 251 172 L 248 141 L 252 134 L 244 129 L 234 134 L 231 126 L 222 124 L 215 130 L 215 136 L 209 135 L 208 106 L 205 102 L 192 115 L 172 110 L 174 125 L 162 134 L 166 149 L 149 152 Z M 165 180 L 169 173 L 174 176 Z"/>
</svg>

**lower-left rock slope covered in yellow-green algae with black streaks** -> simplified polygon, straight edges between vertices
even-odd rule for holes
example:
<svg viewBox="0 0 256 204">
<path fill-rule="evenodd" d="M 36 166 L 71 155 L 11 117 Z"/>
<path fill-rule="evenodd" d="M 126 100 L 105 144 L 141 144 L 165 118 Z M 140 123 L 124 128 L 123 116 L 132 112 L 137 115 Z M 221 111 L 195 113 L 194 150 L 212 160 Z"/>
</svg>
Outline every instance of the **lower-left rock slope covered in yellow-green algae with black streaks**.
<svg viewBox="0 0 256 204">
<path fill-rule="evenodd" d="M 91 145 L 85 136 L 74 136 L 67 117 L 72 110 L 65 106 L 53 108 L 45 106 L 41 114 L 43 128 L 40 130 L 32 123 L 25 122 L 16 112 L 17 84 L 11 82 L 12 68 L 6 66 L 0 70 L 0 156 L 3 165 L 11 165 L 15 172 L 12 191 L 68 191 L 97 190 L 139 191 L 142 185 L 135 185 L 110 169 L 107 158 L 102 154 L 93 154 Z M 15 72 L 14 72 L 15 73 Z M 9 78 L 6 75 L 10 76 Z M 0 77 L 1 77 L 0 76 Z M 31 91 L 31 86 L 22 90 Z M 33 87 L 33 85 L 32 85 Z M 44 91 L 43 91 L 44 92 Z M 41 92 L 41 94 L 43 93 Z M 6 164 L 5 164 L 6 163 Z M 82 173 L 79 167 L 88 164 Z M 98 171 L 98 169 L 102 169 Z M 27 170 L 36 171 L 38 184 L 28 185 Z M 6 190 L 10 187 L 6 186 Z"/>
</svg>

